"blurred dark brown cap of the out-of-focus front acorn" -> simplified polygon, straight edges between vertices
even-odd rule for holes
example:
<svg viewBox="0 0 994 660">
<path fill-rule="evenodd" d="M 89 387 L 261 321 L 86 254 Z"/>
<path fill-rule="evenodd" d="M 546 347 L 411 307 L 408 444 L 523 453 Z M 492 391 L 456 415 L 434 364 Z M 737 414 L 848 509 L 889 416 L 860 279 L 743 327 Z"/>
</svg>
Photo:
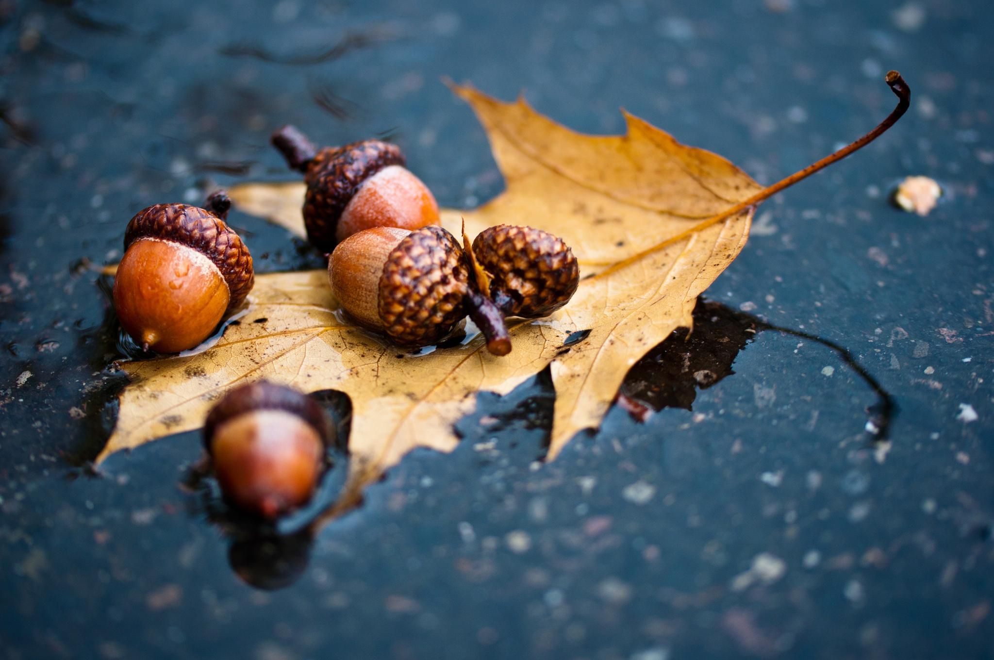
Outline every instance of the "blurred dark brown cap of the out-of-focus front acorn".
<svg viewBox="0 0 994 660">
<path fill-rule="evenodd" d="M 235 388 L 218 402 L 204 421 L 204 446 L 211 453 L 212 439 L 218 427 L 235 417 L 253 411 L 283 411 L 303 419 L 328 446 L 332 435 L 328 417 L 317 402 L 293 388 L 258 381 Z"/>
</svg>

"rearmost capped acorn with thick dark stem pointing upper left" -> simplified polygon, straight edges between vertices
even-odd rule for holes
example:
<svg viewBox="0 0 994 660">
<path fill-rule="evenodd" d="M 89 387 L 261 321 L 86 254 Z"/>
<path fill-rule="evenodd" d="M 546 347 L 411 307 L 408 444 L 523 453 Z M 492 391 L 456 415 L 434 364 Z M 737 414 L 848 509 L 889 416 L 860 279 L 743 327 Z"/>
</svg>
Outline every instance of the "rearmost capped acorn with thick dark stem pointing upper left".
<svg viewBox="0 0 994 660">
<path fill-rule="evenodd" d="M 372 227 L 414 231 L 438 224 L 434 196 L 404 166 L 395 144 L 364 140 L 318 150 L 293 126 L 274 132 L 271 141 L 292 169 L 304 173 L 307 238 L 325 252 Z"/>
</svg>

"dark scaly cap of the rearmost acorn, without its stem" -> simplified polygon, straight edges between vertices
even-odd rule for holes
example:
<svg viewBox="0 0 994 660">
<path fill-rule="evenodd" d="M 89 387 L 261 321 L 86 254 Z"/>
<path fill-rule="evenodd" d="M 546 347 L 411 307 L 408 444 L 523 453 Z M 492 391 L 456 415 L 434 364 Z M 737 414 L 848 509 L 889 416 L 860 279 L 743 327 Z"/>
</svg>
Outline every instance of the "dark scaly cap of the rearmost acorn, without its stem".
<svg viewBox="0 0 994 660">
<path fill-rule="evenodd" d="M 319 151 L 307 163 L 304 177 L 304 226 L 310 242 L 325 252 L 333 250 L 338 220 L 363 182 L 385 167 L 406 162 L 399 146 L 380 140 Z"/>
</svg>

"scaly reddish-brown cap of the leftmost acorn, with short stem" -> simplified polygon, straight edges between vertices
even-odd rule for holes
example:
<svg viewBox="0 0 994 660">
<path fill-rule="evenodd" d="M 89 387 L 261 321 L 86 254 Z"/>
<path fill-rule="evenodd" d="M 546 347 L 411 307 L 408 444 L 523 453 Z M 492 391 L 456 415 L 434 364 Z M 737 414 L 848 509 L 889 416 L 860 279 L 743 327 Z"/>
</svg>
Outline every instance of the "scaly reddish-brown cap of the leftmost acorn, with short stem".
<svg viewBox="0 0 994 660">
<path fill-rule="evenodd" d="M 223 204 L 219 204 L 222 203 L 212 206 L 220 210 Z M 242 239 L 224 220 L 206 209 L 187 204 L 155 204 L 142 209 L 124 232 L 125 251 L 138 239 L 145 238 L 188 246 L 210 258 L 228 284 L 229 310 L 242 304 L 255 281 L 251 254 Z"/>
</svg>

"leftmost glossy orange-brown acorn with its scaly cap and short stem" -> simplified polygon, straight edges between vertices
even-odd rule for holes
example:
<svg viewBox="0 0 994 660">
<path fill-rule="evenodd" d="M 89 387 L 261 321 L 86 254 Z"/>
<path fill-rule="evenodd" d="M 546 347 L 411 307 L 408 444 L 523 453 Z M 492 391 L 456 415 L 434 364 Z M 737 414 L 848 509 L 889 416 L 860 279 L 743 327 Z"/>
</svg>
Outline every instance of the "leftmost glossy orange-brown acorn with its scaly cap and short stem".
<svg viewBox="0 0 994 660">
<path fill-rule="evenodd" d="M 225 223 L 231 200 L 156 204 L 131 219 L 114 276 L 121 327 L 142 346 L 177 353 L 207 339 L 254 282 L 248 248 Z"/>
</svg>

